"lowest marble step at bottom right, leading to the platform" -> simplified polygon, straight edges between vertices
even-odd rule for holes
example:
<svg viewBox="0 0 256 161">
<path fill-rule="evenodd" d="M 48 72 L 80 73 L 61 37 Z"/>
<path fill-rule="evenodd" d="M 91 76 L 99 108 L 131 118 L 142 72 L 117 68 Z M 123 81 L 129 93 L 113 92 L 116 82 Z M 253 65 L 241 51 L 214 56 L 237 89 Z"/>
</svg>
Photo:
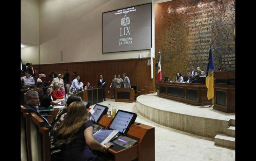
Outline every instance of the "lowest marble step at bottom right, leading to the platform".
<svg viewBox="0 0 256 161">
<path fill-rule="evenodd" d="M 214 145 L 235 149 L 235 137 L 218 133 L 214 137 Z"/>
</svg>

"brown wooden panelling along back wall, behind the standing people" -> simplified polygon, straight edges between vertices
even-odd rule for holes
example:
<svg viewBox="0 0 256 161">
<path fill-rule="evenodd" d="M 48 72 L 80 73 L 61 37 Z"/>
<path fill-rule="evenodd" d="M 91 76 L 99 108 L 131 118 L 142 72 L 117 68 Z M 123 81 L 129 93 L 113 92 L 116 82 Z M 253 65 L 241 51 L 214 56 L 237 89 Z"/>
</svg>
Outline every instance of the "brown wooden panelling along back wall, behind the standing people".
<svg viewBox="0 0 256 161">
<path fill-rule="evenodd" d="M 85 84 L 90 82 L 91 86 L 97 86 L 99 76 L 102 74 L 106 80 L 106 98 L 112 97 L 112 89 L 109 87 L 114 75 L 120 74 L 123 79 L 123 73 L 130 78 L 131 85 L 136 84 L 138 91 L 145 86 L 155 86 L 155 59 L 153 59 L 154 78 L 151 79 L 151 69 L 147 65 L 147 59 L 122 59 L 122 60 L 105 60 L 91 62 L 75 62 L 60 64 L 42 64 L 40 71 L 44 71 L 46 75 L 54 71 L 64 75 L 65 69 L 70 73 L 69 80 L 73 78 L 73 72 L 77 72 L 81 76 L 81 81 Z M 108 93 L 109 91 L 109 93 Z"/>
</svg>

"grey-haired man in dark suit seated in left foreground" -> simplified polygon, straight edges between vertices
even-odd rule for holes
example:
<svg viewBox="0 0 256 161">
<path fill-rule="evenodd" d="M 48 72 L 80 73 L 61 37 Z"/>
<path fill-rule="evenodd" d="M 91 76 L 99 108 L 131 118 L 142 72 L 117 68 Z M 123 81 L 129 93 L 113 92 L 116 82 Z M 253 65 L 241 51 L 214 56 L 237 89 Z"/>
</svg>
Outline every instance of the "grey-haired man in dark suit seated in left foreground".
<svg viewBox="0 0 256 161">
<path fill-rule="evenodd" d="M 24 99 L 26 103 L 24 103 L 23 106 L 26 107 L 27 112 L 37 114 L 37 116 L 39 116 L 42 120 L 45 121 L 45 127 L 51 129 L 52 126 L 49 125 L 49 122 L 47 121 L 47 119 L 41 116 L 38 111 L 39 96 L 37 91 L 32 91 L 32 90 L 27 91 Z"/>
</svg>

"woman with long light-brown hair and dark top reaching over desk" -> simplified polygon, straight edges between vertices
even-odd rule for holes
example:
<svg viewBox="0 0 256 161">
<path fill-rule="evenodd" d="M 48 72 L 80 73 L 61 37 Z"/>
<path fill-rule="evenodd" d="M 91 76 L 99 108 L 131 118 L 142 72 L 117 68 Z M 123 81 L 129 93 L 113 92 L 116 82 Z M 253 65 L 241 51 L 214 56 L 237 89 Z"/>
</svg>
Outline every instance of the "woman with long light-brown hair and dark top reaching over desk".
<svg viewBox="0 0 256 161">
<path fill-rule="evenodd" d="M 91 149 L 106 151 L 113 143 L 105 143 L 102 146 L 93 138 L 93 128 L 83 103 L 72 102 L 54 139 L 55 146 L 61 149 L 64 161 L 101 160 Z"/>
</svg>

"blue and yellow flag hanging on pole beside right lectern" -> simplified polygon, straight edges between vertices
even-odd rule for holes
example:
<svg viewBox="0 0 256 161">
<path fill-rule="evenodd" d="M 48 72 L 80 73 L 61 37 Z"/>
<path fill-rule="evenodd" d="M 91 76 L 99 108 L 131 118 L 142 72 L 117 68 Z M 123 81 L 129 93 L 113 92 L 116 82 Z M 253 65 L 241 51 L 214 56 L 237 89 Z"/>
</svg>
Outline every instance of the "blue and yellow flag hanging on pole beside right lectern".
<svg viewBox="0 0 256 161">
<path fill-rule="evenodd" d="M 206 79 L 205 79 L 205 85 L 208 89 L 207 91 L 207 98 L 208 100 L 212 99 L 214 97 L 214 77 L 213 73 L 215 71 L 213 58 L 212 58 L 212 52 L 211 47 L 208 55 L 208 64 L 207 64 L 207 70 L 206 70 Z"/>
</svg>

